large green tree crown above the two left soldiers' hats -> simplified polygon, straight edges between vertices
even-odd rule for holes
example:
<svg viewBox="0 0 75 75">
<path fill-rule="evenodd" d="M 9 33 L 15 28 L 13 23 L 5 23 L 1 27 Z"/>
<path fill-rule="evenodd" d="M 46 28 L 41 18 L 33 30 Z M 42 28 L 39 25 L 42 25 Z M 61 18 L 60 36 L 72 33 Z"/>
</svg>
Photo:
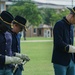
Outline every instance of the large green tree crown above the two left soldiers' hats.
<svg viewBox="0 0 75 75">
<path fill-rule="evenodd" d="M 8 11 L 11 12 L 13 16 L 21 15 L 25 17 L 32 25 L 39 25 L 42 21 L 37 6 L 31 1 L 18 2 L 11 6 Z"/>
</svg>

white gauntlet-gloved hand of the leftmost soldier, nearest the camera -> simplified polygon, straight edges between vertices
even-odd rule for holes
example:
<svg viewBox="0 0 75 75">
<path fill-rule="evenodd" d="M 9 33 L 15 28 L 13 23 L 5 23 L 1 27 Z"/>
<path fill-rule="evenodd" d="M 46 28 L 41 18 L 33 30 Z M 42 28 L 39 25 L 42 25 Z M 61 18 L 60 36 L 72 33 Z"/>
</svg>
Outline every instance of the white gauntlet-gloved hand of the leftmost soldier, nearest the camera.
<svg viewBox="0 0 75 75">
<path fill-rule="evenodd" d="M 23 60 L 19 57 L 5 56 L 5 64 L 21 64 Z"/>
</svg>

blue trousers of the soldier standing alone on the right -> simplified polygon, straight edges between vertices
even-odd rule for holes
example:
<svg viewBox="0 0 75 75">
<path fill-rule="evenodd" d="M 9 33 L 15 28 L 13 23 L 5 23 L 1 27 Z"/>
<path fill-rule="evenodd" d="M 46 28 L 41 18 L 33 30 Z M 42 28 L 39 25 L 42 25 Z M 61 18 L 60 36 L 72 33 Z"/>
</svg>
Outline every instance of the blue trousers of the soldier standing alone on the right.
<svg viewBox="0 0 75 75">
<path fill-rule="evenodd" d="M 55 75 L 75 75 L 75 64 L 71 60 L 68 66 L 53 64 Z"/>
</svg>

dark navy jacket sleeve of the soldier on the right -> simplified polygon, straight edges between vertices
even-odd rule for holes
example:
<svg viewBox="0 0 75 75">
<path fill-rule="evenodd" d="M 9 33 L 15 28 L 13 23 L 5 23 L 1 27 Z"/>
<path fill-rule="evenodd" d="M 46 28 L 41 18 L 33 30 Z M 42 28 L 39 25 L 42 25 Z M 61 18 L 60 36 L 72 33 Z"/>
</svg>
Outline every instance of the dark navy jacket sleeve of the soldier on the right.
<svg viewBox="0 0 75 75">
<path fill-rule="evenodd" d="M 53 29 L 54 47 L 57 50 L 65 51 L 67 44 L 63 41 L 63 31 L 62 22 L 57 22 Z"/>
</svg>

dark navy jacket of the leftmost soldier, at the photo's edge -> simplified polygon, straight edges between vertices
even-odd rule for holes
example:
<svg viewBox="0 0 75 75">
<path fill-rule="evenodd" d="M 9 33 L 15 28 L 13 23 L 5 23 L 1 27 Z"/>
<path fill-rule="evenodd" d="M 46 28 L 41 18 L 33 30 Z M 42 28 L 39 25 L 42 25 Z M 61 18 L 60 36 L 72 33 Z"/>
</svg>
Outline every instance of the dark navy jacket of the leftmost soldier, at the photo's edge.
<svg viewBox="0 0 75 75">
<path fill-rule="evenodd" d="M 0 69 L 9 68 L 8 65 L 5 65 L 6 55 L 7 55 L 7 50 L 6 50 L 5 34 L 0 31 Z"/>
</svg>

